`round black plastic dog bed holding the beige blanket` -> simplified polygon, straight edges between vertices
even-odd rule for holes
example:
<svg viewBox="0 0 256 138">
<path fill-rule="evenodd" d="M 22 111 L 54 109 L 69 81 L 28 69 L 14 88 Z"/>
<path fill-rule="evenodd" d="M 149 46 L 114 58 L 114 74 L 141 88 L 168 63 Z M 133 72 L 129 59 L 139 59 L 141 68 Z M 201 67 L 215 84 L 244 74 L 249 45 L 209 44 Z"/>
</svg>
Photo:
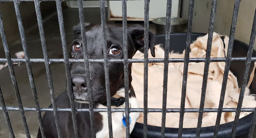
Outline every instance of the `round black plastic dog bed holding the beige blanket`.
<svg viewBox="0 0 256 138">
<path fill-rule="evenodd" d="M 192 33 L 191 40 L 196 40 L 197 37 L 203 36 L 203 33 Z M 170 52 L 173 50 L 174 52 L 182 53 L 185 48 L 186 42 L 186 33 L 173 33 L 171 34 L 171 42 L 170 42 Z M 163 44 L 165 45 L 165 34 L 156 35 L 156 44 Z M 232 57 L 246 57 L 247 55 L 248 45 L 245 43 L 234 40 L 233 52 Z M 143 52 L 144 50 L 140 50 Z M 253 51 L 253 57 L 256 56 L 256 51 Z M 252 72 L 254 63 L 251 64 L 250 72 Z M 237 81 L 239 87 L 241 86 L 242 77 L 244 73 L 245 62 L 231 62 L 230 70 L 237 76 Z M 249 79 L 248 79 L 249 80 Z M 252 93 L 256 93 L 256 76 L 252 81 L 250 90 Z M 135 91 L 136 93 L 136 91 Z M 168 99 L 167 99 L 168 100 Z M 150 101 L 148 101 L 150 102 Z M 236 138 L 244 138 L 247 137 L 250 125 L 252 122 L 252 115 L 253 113 L 239 119 L 238 126 L 236 129 Z M 166 118 L 168 120 L 168 118 Z M 220 125 L 218 138 L 228 138 L 231 135 L 233 122 L 225 123 Z M 201 128 L 201 138 L 212 138 L 214 127 L 202 127 Z M 148 138 L 157 138 L 161 137 L 161 127 L 151 126 L 148 125 Z M 178 128 L 167 128 L 165 129 L 165 137 L 166 138 L 176 138 L 178 137 Z M 182 131 L 183 138 L 193 138 L 196 137 L 196 128 L 183 128 Z M 131 133 L 131 138 L 143 138 L 143 124 L 136 123 L 135 127 Z"/>
</svg>

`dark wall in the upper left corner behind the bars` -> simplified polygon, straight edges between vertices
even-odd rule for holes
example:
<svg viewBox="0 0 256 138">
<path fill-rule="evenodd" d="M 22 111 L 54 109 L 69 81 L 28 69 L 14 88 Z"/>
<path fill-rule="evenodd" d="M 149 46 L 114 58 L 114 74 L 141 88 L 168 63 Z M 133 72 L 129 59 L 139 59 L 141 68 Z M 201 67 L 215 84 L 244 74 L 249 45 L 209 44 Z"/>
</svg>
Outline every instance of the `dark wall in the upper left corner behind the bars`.
<svg viewBox="0 0 256 138">
<path fill-rule="evenodd" d="M 40 6 L 43 19 L 56 11 L 55 2 L 41 2 Z M 8 42 L 12 43 L 17 39 L 20 39 L 13 2 L 0 3 L 0 10 Z M 22 16 L 25 32 L 28 32 L 29 28 L 37 24 L 34 2 L 20 2 L 20 13 Z"/>
</svg>

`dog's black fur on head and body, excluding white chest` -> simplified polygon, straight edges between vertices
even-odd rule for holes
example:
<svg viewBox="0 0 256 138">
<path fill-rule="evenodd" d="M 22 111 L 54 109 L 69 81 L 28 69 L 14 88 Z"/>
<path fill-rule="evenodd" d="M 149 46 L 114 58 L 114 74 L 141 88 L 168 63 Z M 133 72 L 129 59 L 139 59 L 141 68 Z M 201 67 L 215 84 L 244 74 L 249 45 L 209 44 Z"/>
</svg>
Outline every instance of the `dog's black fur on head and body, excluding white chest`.
<svg viewBox="0 0 256 138">
<path fill-rule="evenodd" d="M 74 28 L 74 33 L 76 34 L 76 39 L 73 44 L 79 43 L 82 47 L 81 30 L 80 24 L 76 25 Z M 86 29 L 86 42 L 87 51 L 89 59 L 103 59 L 103 36 L 101 25 L 94 25 L 90 23 L 85 23 Z M 128 58 L 132 58 L 137 50 L 144 47 L 144 28 L 140 25 L 132 25 L 128 27 Z M 120 52 L 116 55 L 108 54 L 109 59 L 122 59 L 124 56 L 123 50 L 123 33 L 122 27 L 109 25 L 106 26 L 108 49 L 115 45 L 120 49 Z M 151 49 L 151 54 L 155 56 L 155 37 L 152 32 L 149 31 L 149 47 Z M 83 59 L 83 48 L 76 52 L 71 49 L 70 58 Z M 130 87 L 130 97 L 135 97 L 131 82 L 131 64 L 129 64 L 129 87 Z M 92 101 L 94 107 L 98 104 L 103 104 L 106 102 L 106 90 L 105 90 L 105 73 L 103 63 L 89 63 L 90 77 L 91 77 L 91 90 L 92 90 Z M 70 73 L 72 81 L 78 79 L 83 81 L 85 89 L 78 91 L 78 88 L 74 87 L 73 83 L 73 94 L 74 98 L 79 101 L 88 101 L 88 95 L 86 90 L 85 80 L 85 69 L 84 63 L 71 63 Z M 79 76 L 79 77 L 77 77 Z M 110 94 L 111 96 L 116 94 L 121 88 L 124 88 L 124 65 L 123 63 L 109 63 L 109 79 L 110 79 Z M 63 82 L 64 83 L 64 82 Z M 67 88 L 68 89 L 68 88 Z M 79 88 L 80 89 L 80 88 Z M 56 99 L 58 108 L 70 107 L 69 99 L 66 92 L 60 94 Z M 75 102 L 76 107 L 88 108 L 87 104 L 81 104 Z M 52 107 L 52 105 L 50 105 Z M 91 138 L 91 126 L 90 126 L 90 116 L 88 112 L 78 112 L 77 123 L 80 138 Z M 60 130 L 62 138 L 73 138 L 74 129 L 71 117 L 71 112 L 58 112 L 60 121 Z M 102 117 L 99 113 L 94 113 L 95 120 L 95 131 L 98 132 L 102 129 Z M 57 138 L 57 130 L 54 121 L 53 112 L 46 112 L 43 117 L 44 133 L 47 138 Z M 115 133 L 115 132 L 113 132 Z M 38 138 L 41 138 L 40 130 L 38 131 Z"/>
</svg>

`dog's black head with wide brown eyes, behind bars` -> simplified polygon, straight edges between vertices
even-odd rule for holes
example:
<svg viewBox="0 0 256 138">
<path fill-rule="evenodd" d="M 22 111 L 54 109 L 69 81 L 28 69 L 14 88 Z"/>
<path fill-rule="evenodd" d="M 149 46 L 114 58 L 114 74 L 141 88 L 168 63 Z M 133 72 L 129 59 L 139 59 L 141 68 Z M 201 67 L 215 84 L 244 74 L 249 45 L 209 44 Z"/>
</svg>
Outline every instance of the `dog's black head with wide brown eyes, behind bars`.
<svg viewBox="0 0 256 138">
<path fill-rule="evenodd" d="M 70 51 L 70 58 L 83 59 L 83 46 L 81 39 L 80 24 L 74 28 L 75 40 L 72 43 Z M 85 23 L 87 52 L 89 59 L 103 59 L 103 34 L 101 25 L 93 25 Z M 122 27 L 107 25 L 106 36 L 108 46 L 109 59 L 123 59 L 123 33 Z M 137 50 L 144 47 L 144 28 L 140 25 L 132 25 L 127 29 L 127 47 L 128 58 L 132 58 Z M 149 47 L 151 54 L 155 56 L 155 37 L 149 31 Z M 114 96 L 116 91 L 124 88 L 124 64 L 123 63 L 109 63 L 109 79 L 110 79 L 110 94 Z M 106 102 L 105 89 L 105 73 L 104 63 L 89 63 L 91 91 L 93 103 Z M 129 86 L 131 88 L 131 64 L 128 67 L 129 71 Z M 72 79 L 72 89 L 74 98 L 77 102 L 86 103 L 88 101 L 86 73 L 84 63 L 71 63 L 70 73 Z"/>
</svg>

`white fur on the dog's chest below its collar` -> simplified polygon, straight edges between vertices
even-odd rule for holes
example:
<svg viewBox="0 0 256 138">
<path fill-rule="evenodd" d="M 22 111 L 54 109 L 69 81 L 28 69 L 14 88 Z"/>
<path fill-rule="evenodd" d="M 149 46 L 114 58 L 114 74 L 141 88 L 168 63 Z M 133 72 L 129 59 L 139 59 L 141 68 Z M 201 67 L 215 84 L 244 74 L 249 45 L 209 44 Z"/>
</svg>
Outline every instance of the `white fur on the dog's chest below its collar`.
<svg viewBox="0 0 256 138">
<path fill-rule="evenodd" d="M 117 91 L 116 95 L 124 97 L 124 89 Z M 137 99 L 135 97 L 129 98 L 129 102 L 131 103 L 131 108 L 139 108 L 137 103 Z M 98 108 L 107 108 L 107 106 L 99 105 Z M 124 108 L 123 106 L 111 106 L 111 108 Z M 108 134 L 108 113 L 107 112 L 99 112 L 102 115 L 102 129 L 96 133 L 96 138 L 109 138 Z M 130 124 L 130 133 L 133 130 L 133 127 L 138 119 L 140 113 L 132 112 L 130 113 L 131 124 Z M 115 112 L 112 113 L 112 129 L 113 129 L 113 138 L 125 138 L 125 127 L 122 122 L 123 113 Z"/>
</svg>

